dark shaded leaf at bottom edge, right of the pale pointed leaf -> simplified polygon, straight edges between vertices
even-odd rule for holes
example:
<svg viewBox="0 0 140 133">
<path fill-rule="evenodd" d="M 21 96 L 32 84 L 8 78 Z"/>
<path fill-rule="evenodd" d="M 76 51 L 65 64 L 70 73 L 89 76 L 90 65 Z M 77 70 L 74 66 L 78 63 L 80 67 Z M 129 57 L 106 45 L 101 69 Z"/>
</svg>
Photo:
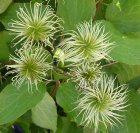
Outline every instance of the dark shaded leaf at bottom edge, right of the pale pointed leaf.
<svg viewBox="0 0 140 133">
<path fill-rule="evenodd" d="M 76 123 L 71 122 L 67 117 L 60 117 L 58 119 L 58 130 L 56 133 L 82 133 L 83 128 L 77 126 Z"/>
</svg>

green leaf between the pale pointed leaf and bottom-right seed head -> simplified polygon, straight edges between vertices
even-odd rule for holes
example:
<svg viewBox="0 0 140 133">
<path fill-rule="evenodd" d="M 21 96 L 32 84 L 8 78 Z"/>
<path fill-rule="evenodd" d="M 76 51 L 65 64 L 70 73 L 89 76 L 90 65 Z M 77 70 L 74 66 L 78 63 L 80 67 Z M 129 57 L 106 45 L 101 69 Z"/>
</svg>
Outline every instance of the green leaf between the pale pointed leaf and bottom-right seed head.
<svg viewBox="0 0 140 133">
<path fill-rule="evenodd" d="M 79 111 L 75 109 L 75 102 L 77 101 L 78 96 L 79 94 L 75 89 L 75 84 L 72 82 L 67 82 L 60 84 L 56 93 L 56 101 L 64 109 L 64 112 L 66 112 L 68 116 L 70 116 L 72 121 L 80 124 L 81 115 L 78 116 Z"/>
</svg>

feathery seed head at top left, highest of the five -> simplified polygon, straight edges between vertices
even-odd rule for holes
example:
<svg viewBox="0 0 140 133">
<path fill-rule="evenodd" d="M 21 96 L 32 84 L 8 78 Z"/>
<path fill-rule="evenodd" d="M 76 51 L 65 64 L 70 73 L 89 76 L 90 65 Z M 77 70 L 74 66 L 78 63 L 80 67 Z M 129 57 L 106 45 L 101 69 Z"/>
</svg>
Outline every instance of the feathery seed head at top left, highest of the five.
<svg viewBox="0 0 140 133">
<path fill-rule="evenodd" d="M 11 20 L 9 23 L 9 31 L 15 36 L 14 40 L 18 40 L 15 44 L 25 42 L 43 42 L 44 45 L 52 47 L 50 39 L 53 35 L 62 29 L 59 22 L 61 21 L 53 12 L 49 5 L 35 3 L 27 8 L 19 8 L 17 11 L 17 20 Z"/>
</svg>

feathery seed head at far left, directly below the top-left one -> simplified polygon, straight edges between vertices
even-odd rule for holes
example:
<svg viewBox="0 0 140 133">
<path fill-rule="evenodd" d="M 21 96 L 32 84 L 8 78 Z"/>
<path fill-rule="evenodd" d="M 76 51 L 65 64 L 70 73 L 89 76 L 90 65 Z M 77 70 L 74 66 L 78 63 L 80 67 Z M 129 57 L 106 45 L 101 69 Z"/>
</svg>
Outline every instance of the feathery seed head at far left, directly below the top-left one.
<svg viewBox="0 0 140 133">
<path fill-rule="evenodd" d="M 47 71 L 51 69 L 51 66 L 46 62 L 48 53 L 42 47 L 23 47 L 16 53 L 15 56 L 10 56 L 11 61 L 15 64 L 8 65 L 8 69 L 12 68 L 8 72 L 16 75 L 12 78 L 12 81 L 16 87 L 20 87 L 22 83 L 28 84 L 28 90 L 32 91 L 32 85 L 36 86 L 38 82 L 46 80 Z"/>
</svg>

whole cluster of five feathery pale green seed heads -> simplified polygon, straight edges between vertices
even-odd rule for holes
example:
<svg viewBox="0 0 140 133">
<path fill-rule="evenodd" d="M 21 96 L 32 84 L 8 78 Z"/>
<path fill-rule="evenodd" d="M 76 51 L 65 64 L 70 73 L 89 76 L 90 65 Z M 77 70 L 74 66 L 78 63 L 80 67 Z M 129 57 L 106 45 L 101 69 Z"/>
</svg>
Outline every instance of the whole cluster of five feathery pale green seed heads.
<svg viewBox="0 0 140 133">
<path fill-rule="evenodd" d="M 53 67 L 44 47 L 54 49 L 54 35 L 63 30 L 61 21 L 49 5 L 30 3 L 17 11 L 17 20 L 9 23 L 14 44 L 21 46 L 16 56 L 10 56 L 14 64 L 8 65 L 8 69 L 12 68 L 8 73 L 16 73 L 12 81 L 18 88 L 27 83 L 32 91 L 33 85 L 38 89 L 38 83 L 47 80 L 47 72 Z M 99 22 L 78 24 L 67 35 L 54 50 L 53 61 L 56 66 L 60 63 L 62 68 L 68 68 L 70 79 L 80 90 L 76 109 L 83 114 L 81 124 L 94 125 L 96 131 L 100 123 L 115 125 L 127 106 L 127 86 L 115 85 L 115 79 L 108 77 L 99 63 L 111 59 L 108 54 L 114 42 L 110 42 L 109 33 Z"/>
</svg>

